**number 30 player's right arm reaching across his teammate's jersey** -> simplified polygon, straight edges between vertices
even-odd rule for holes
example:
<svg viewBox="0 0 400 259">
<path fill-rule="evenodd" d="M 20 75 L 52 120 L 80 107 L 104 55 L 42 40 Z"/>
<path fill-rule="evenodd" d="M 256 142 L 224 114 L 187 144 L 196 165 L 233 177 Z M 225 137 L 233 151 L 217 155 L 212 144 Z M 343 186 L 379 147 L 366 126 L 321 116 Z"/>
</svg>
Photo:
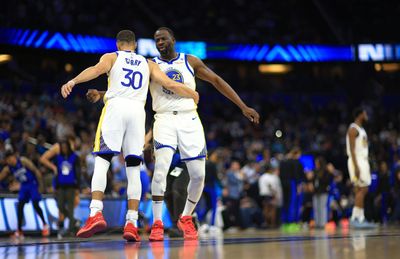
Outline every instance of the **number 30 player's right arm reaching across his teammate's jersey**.
<svg viewBox="0 0 400 259">
<path fill-rule="evenodd" d="M 153 61 L 149 60 L 149 68 L 150 68 L 150 75 L 151 79 L 155 82 L 159 83 L 160 85 L 164 86 L 168 90 L 174 92 L 177 95 L 182 97 L 192 98 L 195 103 L 199 102 L 199 94 L 187 87 L 184 84 L 179 82 L 175 82 L 171 78 L 169 78 L 164 72 L 160 70 L 158 64 L 154 63 Z"/>
</svg>

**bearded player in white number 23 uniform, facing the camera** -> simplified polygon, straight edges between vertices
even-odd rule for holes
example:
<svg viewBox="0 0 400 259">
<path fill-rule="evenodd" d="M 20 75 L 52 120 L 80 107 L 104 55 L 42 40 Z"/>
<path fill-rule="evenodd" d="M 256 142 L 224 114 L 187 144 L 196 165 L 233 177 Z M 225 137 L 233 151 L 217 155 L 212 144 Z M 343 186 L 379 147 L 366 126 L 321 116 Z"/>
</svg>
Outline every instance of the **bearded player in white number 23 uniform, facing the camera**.
<svg viewBox="0 0 400 259">
<path fill-rule="evenodd" d="M 196 89 L 195 77 L 205 80 L 234 102 L 250 121 L 259 122 L 258 113 L 248 107 L 230 85 L 199 58 L 175 51 L 175 37 L 171 29 L 159 28 L 154 34 L 154 40 L 160 57 L 153 60 L 171 79 L 184 83 L 193 90 Z M 177 225 L 183 231 L 185 239 L 197 239 L 191 215 L 203 191 L 207 156 L 204 130 L 196 111 L 197 105 L 190 99 L 183 99 L 171 93 L 157 82 L 150 83 L 150 92 L 156 114 L 153 126 L 155 169 L 151 188 L 154 223 L 149 239 L 160 241 L 164 238 L 162 205 L 168 169 L 177 148 L 190 175 L 188 198 Z"/>
</svg>

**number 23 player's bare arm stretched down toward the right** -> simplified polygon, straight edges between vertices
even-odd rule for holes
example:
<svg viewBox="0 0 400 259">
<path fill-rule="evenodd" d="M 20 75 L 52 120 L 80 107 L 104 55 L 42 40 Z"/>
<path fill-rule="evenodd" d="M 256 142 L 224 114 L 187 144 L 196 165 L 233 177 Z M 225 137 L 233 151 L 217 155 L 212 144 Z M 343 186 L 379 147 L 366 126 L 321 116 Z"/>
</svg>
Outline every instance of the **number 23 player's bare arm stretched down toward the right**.
<svg viewBox="0 0 400 259">
<path fill-rule="evenodd" d="M 188 61 L 198 78 L 211 83 L 226 98 L 235 103 L 242 110 L 243 115 L 250 121 L 259 123 L 260 115 L 258 112 L 248 107 L 224 79 L 207 67 L 199 58 L 188 55 Z"/>
</svg>

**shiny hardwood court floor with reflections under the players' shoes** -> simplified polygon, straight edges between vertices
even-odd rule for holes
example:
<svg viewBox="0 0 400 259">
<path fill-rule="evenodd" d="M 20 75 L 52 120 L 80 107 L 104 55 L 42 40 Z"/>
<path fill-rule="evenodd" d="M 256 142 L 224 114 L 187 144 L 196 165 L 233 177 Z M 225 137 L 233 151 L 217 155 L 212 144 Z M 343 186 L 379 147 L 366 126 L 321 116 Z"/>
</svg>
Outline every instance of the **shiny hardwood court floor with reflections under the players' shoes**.
<svg viewBox="0 0 400 259">
<path fill-rule="evenodd" d="M 121 235 L 101 234 L 91 239 L 0 239 L 0 258 L 82 259 L 261 259 L 261 258 L 400 258 L 400 228 L 377 230 L 243 231 L 199 241 L 168 239 L 127 243 Z"/>
</svg>

